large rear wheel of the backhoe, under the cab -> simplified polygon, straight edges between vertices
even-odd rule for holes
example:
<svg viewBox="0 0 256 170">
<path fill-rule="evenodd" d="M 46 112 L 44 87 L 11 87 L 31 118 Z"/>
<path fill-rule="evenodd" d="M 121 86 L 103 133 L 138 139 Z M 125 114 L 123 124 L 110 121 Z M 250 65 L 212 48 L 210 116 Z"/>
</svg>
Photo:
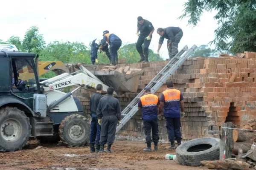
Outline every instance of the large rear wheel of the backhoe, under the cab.
<svg viewBox="0 0 256 170">
<path fill-rule="evenodd" d="M 21 150 L 31 134 L 29 118 L 15 107 L 0 109 L 0 128 L 0 152 Z"/>
</svg>

